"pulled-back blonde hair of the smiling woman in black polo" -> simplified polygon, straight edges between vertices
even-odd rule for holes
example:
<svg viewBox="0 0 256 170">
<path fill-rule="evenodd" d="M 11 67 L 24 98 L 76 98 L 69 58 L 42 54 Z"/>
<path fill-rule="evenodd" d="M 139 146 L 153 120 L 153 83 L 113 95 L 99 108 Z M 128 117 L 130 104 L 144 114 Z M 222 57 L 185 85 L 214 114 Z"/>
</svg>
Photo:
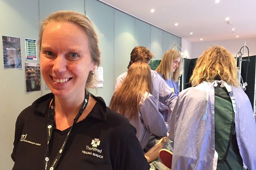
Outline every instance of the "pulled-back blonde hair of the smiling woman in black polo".
<svg viewBox="0 0 256 170">
<path fill-rule="evenodd" d="M 98 38 L 97 34 L 94 30 L 94 27 L 84 14 L 74 11 L 58 11 L 50 14 L 41 24 L 40 31 L 39 31 L 39 40 L 37 45 L 39 47 L 39 51 L 41 51 L 42 45 L 42 35 L 44 33 L 45 27 L 51 22 L 71 22 L 76 24 L 78 27 L 82 28 L 87 35 L 88 38 L 88 45 L 91 54 L 91 61 L 99 66 L 100 64 L 100 51 L 98 46 Z M 86 66 L 85 66 L 86 67 Z M 96 80 L 95 75 L 88 75 L 86 81 L 86 87 L 93 87 L 93 82 Z"/>
</svg>

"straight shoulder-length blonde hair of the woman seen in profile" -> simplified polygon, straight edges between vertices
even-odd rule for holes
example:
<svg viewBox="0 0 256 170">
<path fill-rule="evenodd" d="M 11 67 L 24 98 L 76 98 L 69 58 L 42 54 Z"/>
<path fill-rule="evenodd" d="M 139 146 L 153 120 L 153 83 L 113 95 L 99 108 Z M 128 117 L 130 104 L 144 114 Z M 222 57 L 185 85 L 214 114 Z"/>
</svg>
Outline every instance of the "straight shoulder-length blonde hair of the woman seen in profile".
<svg viewBox="0 0 256 170">
<path fill-rule="evenodd" d="M 165 52 L 159 66 L 155 69 L 156 72 L 161 73 L 163 79 L 170 80 L 172 79 L 174 82 L 179 80 L 179 76 L 181 74 L 181 67 L 182 59 L 179 62 L 178 67 L 173 72 L 173 60 L 180 58 L 181 54 L 176 50 L 168 50 Z"/>
</svg>

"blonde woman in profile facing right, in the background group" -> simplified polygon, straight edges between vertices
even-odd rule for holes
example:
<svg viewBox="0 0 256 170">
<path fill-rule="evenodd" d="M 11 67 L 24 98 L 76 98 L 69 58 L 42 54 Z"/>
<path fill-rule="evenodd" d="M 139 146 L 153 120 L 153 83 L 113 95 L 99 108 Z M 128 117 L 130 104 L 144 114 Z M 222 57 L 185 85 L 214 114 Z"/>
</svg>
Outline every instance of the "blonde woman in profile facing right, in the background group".
<svg viewBox="0 0 256 170">
<path fill-rule="evenodd" d="M 178 80 L 181 74 L 181 67 L 179 67 L 181 64 L 181 54 L 176 50 L 170 49 L 165 52 L 159 66 L 155 69 L 176 95 L 180 93 Z M 170 109 L 159 103 L 159 111 L 164 116 L 165 122 L 168 122 L 171 114 Z"/>
</svg>

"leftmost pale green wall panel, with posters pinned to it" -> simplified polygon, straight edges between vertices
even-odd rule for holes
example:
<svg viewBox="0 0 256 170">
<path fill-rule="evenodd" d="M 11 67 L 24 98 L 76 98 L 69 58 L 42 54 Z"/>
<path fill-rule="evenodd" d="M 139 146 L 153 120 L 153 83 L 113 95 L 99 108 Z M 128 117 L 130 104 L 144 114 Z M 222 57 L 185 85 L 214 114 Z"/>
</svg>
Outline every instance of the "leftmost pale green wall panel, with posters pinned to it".
<svg viewBox="0 0 256 170">
<path fill-rule="evenodd" d="M 29 9 L 29 10 L 28 10 Z M 0 1 L 0 169 L 12 169 L 11 153 L 13 149 L 15 122 L 20 112 L 41 96 L 41 92 L 26 93 L 25 38 L 37 39 L 38 2 L 1 0 Z M 20 50 L 23 69 L 4 69 L 2 35 L 20 38 Z"/>
</svg>

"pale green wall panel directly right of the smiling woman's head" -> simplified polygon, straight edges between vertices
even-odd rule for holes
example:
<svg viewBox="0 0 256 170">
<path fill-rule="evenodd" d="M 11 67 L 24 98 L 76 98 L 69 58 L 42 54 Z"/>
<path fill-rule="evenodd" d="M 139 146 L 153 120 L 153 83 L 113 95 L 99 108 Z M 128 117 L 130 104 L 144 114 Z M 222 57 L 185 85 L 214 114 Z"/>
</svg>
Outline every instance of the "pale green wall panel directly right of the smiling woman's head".
<svg viewBox="0 0 256 170">
<path fill-rule="evenodd" d="M 103 67 L 103 87 L 90 91 L 108 106 L 114 93 L 114 9 L 96 0 L 85 0 L 85 10 L 98 35 Z"/>
</svg>

